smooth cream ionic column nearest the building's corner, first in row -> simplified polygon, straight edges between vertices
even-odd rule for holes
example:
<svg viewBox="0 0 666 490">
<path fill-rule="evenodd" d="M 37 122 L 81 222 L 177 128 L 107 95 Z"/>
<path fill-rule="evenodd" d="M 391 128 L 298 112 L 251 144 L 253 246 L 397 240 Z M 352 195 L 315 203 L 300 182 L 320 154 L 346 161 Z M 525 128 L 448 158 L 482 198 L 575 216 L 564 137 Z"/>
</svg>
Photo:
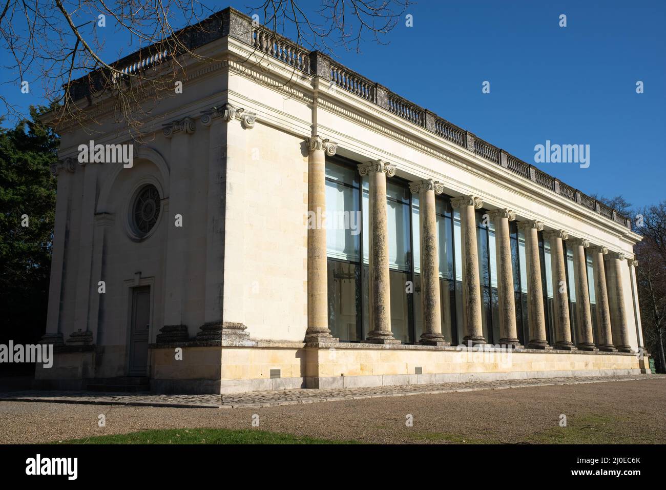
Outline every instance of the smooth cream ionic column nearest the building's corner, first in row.
<svg viewBox="0 0 666 490">
<path fill-rule="evenodd" d="M 337 144 L 319 135 L 310 138 L 308 159 L 308 217 L 326 215 L 326 155 L 335 155 Z M 384 197 L 386 203 L 386 196 Z M 308 221 L 310 221 L 308 219 Z M 319 223 L 320 220 L 312 220 Z M 388 265 L 387 265 L 388 269 Z M 306 342 L 332 340 L 328 329 L 328 271 L 326 228 L 308 226 L 308 329 Z M 336 339 L 337 340 L 337 339 Z"/>
</svg>

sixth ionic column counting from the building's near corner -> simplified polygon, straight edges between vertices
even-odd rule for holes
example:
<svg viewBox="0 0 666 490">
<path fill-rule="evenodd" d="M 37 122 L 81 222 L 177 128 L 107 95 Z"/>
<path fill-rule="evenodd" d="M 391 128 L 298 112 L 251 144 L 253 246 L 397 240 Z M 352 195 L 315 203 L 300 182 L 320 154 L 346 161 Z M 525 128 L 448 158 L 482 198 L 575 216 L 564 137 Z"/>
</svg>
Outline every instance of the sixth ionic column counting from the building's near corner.
<svg viewBox="0 0 666 490">
<path fill-rule="evenodd" d="M 541 261 L 539 261 L 539 231 L 543 223 L 535 219 L 520 221 L 518 229 L 525 234 L 525 263 L 527 265 L 527 322 L 529 323 L 528 349 L 552 349 L 545 335 Z"/>
</svg>

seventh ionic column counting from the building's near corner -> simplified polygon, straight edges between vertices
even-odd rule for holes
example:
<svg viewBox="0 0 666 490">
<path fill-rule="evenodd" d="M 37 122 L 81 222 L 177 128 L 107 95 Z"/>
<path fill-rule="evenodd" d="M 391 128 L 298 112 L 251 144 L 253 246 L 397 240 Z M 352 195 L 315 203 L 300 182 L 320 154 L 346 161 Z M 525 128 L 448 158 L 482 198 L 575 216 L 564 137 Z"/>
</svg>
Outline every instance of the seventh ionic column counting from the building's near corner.
<svg viewBox="0 0 666 490">
<path fill-rule="evenodd" d="M 553 279 L 553 306 L 555 308 L 555 349 L 577 350 L 571 342 L 571 321 L 569 319 L 569 292 L 567 291 L 567 271 L 564 265 L 562 240 L 569 239 L 564 230 L 544 231 L 543 237 L 550 243 L 550 261 Z"/>
</svg>

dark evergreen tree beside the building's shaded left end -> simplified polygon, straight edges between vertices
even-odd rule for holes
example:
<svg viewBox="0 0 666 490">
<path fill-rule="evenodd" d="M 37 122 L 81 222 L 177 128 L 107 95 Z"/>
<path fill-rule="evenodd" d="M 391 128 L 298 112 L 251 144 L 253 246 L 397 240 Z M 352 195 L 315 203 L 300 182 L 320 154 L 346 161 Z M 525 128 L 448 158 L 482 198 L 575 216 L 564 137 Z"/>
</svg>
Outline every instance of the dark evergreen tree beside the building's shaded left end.
<svg viewBox="0 0 666 490">
<path fill-rule="evenodd" d="M 0 127 L 0 343 L 36 343 L 46 326 L 59 138 L 39 110 Z"/>
</svg>

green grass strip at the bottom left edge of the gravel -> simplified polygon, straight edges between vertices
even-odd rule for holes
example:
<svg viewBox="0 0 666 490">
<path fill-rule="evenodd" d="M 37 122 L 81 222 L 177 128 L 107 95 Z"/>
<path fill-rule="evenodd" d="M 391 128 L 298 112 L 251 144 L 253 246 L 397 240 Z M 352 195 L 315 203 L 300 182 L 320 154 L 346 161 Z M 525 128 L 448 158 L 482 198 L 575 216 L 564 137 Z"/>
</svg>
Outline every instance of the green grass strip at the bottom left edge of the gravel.
<svg viewBox="0 0 666 490">
<path fill-rule="evenodd" d="M 357 444 L 244 429 L 161 429 L 57 441 L 54 444 Z"/>
</svg>

